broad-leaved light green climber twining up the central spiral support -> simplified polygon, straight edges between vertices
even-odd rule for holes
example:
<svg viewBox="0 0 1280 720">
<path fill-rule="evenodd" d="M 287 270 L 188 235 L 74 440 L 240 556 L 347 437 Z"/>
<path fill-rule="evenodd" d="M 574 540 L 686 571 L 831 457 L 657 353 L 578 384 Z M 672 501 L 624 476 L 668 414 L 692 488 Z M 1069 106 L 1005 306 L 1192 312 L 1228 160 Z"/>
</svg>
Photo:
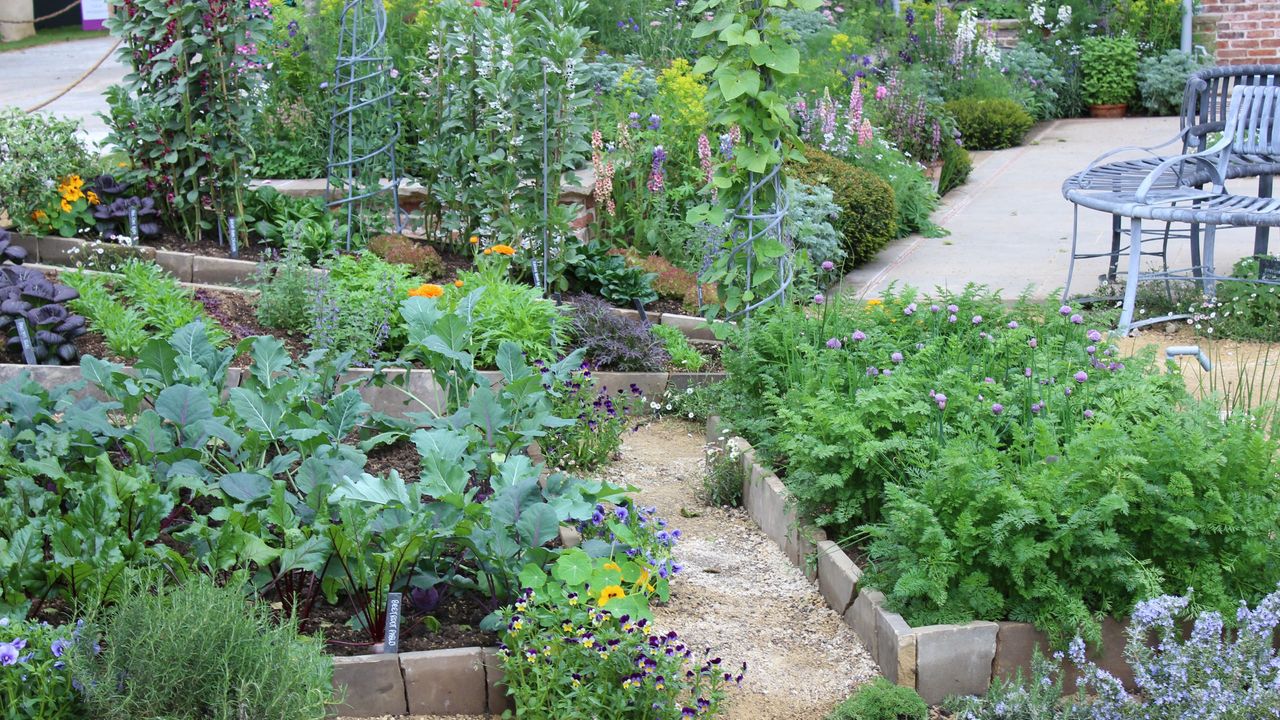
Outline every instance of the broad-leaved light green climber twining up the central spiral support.
<svg viewBox="0 0 1280 720">
<path fill-rule="evenodd" d="M 689 220 L 723 229 L 723 251 L 704 270 L 703 281 L 721 286 L 728 314 L 768 296 L 782 282 L 769 263 L 787 252 L 781 233 L 758 234 L 746 252 L 736 249 L 742 237 L 755 234 L 758 220 L 745 215 L 769 214 L 782 201 L 781 184 L 760 181 L 783 160 L 803 161 L 786 97 L 773 82 L 774 76 L 800 72 L 800 51 L 791 46 L 780 13 L 818 5 L 819 0 L 699 0 L 694 6 L 704 19 L 692 35 L 707 40 L 707 54 L 694 72 L 710 76 L 708 104 L 717 109 L 714 122 L 728 129 L 733 147 L 732 159 L 710 181 L 717 201 L 692 208 Z M 714 313 L 708 310 L 708 315 Z"/>
</svg>

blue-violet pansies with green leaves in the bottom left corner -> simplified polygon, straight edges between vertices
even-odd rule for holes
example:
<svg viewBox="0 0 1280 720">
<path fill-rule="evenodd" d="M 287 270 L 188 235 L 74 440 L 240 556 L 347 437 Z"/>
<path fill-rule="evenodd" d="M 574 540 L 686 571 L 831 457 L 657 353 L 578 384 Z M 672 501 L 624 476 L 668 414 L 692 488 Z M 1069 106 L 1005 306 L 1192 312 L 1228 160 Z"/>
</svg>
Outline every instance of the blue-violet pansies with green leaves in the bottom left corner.
<svg viewBox="0 0 1280 720">
<path fill-rule="evenodd" d="M 64 656 L 78 639 L 70 626 L 0 615 L 0 697 L 6 719 L 81 717 Z"/>
</svg>

